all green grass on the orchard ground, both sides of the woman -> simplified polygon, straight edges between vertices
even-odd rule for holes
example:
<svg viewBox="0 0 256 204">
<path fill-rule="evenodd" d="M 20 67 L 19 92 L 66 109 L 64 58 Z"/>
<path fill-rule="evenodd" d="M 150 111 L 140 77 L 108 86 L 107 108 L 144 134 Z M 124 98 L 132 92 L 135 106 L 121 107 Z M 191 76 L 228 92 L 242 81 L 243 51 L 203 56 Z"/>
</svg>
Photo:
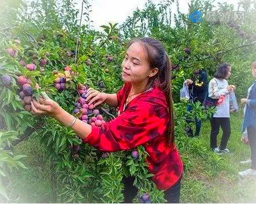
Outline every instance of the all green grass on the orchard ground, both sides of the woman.
<svg viewBox="0 0 256 204">
<path fill-rule="evenodd" d="M 209 150 L 210 124 L 203 123 L 199 138 L 184 138 L 186 151 L 181 151 L 185 174 L 181 187 L 181 202 L 184 203 L 255 203 L 255 178 L 239 178 L 238 171 L 249 168 L 239 161 L 250 156 L 249 146 L 240 141 L 242 113 L 231 116 L 232 136 L 228 148 L 231 153 L 218 156 Z M 222 132 L 218 136 L 220 142 Z M 219 144 L 219 143 L 218 143 Z M 14 171 L 8 192 L 12 202 L 53 202 L 50 187 L 50 164 L 44 160 L 45 147 L 37 137 L 19 144 L 15 154 L 28 155 L 23 159 L 27 170 Z"/>
</svg>

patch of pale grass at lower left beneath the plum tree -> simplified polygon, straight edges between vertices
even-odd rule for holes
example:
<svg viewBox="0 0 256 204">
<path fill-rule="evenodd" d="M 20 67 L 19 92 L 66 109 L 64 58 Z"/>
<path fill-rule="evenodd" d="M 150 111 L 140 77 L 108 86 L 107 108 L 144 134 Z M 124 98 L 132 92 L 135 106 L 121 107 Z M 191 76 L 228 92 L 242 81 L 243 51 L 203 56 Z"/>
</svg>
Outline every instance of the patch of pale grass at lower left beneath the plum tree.
<svg viewBox="0 0 256 204">
<path fill-rule="evenodd" d="M 14 154 L 27 155 L 23 164 L 28 169 L 13 171 L 7 187 L 11 202 L 51 203 L 50 163 L 45 161 L 45 147 L 38 137 L 31 137 L 16 146 Z"/>
</svg>

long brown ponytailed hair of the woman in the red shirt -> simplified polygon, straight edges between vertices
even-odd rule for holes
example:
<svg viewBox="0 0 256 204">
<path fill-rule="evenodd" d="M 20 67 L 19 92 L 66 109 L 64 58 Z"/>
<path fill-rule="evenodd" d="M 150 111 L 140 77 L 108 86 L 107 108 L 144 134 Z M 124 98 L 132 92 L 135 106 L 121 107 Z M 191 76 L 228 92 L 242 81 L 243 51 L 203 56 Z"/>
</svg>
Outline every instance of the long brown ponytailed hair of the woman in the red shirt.
<svg viewBox="0 0 256 204">
<path fill-rule="evenodd" d="M 158 73 L 154 77 L 150 77 L 145 90 L 152 87 L 155 80 L 160 81 L 160 88 L 165 92 L 168 112 L 170 116 L 167 140 L 169 144 L 174 144 L 174 117 L 173 117 L 173 95 L 171 93 L 171 62 L 161 42 L 154 38 L 133 39 L 128 43 L 139 42 L 144 48 L 149 60 L 150 69 L 158 68 Z"/>
</svg>

